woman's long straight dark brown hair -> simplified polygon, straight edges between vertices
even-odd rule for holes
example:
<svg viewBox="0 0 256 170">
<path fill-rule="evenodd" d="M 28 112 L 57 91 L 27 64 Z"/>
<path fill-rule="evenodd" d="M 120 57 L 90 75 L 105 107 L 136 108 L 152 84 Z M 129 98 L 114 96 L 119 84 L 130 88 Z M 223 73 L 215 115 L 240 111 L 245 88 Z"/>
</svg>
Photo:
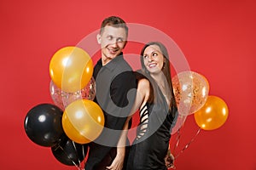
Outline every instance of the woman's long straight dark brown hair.
<svg viewBox="0 0 256 170">
<path fill-rule="evenodd" d="M 170 68 L 170 62 L 169 62 L 169 54 L 167 52 L 166 47 L 161 43 L 161 42 L 148 42 L 147 44 L 145 44 L 145 46 L 143 47 L 142 51 L 141 51 L 141 65 L 142 65 L 142 71 L 143 74 L 145 74 L 146 77 L 151 77 L 149 72 L 146 69 L 146 66 L 144 65 L 144 60 L 143 60 L 143 54 L 146 48 L 148 48 L 148 46 L 151 45 L 156 45 L 160 48 L 160 53 L 163 54 L 164 58 L 166 59 L 166 62 L 163 65 L 162 71 L 166 77 L 166 80 L 168 82 L 168 86 L 169 89 L 171 91 L 171 99 L 170 99 L 170 108 L 172 108 L 172 106 L 177 107 L 176 105 L 176 100 L 173 94 L 173 88 L 172 88 L 172 77 L 171 77 L 171 68 Z M 150 94 L 149 94 L 149 101 L 152 101 L 154 99 L 154 91 L 150 89 Z"/>
</svg>

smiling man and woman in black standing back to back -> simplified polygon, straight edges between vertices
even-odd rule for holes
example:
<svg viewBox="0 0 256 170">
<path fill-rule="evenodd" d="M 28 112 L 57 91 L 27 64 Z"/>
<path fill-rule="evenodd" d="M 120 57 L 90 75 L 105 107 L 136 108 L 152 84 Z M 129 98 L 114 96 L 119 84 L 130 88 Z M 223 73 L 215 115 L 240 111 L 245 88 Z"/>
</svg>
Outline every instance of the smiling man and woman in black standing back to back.
<svg viewBox="0 0 256 170">
<path fill-rule="evenodd" d="M 166 47 L 161 42 L 145 44 L 140 56 L 142 69 L 134 72 L 123 58 L 127 37 L 124 20 L 111 16 L 102 21 L 96 37 L 102 58 L 93 76 L 105 127 L 89 144 L 85 170 L 166 170 L 173 163 L 168 147 L 177 105 Z M 127 146 L 127 129 L 135 111 L 139 111 L 140 124 L 136 139 Z"/>
</svg>

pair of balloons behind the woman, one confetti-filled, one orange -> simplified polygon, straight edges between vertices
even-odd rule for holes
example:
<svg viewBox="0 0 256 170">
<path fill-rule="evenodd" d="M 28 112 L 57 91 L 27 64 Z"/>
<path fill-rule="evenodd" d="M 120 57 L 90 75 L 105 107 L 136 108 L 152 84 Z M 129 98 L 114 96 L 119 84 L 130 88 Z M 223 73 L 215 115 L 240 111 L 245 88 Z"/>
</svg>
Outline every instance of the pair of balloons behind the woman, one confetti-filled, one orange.
<svg viewBox="0 0 256 170">
<path fill-rule="evenodd" d="M 173 93 L 177 101 L 179 129 L 186 116 L 194 114 L 195 122 L 204 130 L 221 127 L 227 120 L 229 110 L 223 99 L 209 94 L 207 78 L 194 71 L 183 71 L 172 78 Z"/>
</svg>

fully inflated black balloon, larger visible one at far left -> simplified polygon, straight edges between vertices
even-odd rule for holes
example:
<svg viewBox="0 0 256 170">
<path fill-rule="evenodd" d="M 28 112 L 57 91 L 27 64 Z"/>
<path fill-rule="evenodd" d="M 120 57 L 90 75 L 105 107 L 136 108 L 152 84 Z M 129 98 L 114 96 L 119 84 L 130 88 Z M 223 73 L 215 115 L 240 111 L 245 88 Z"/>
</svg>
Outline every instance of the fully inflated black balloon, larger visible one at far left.
<svg viewBox="0 0 256 170">
<path fill-rule="evenodd" d="M 32 142 L 51 147 L 57 144 L 64 131 L 61 124 L 63 112 L 51 104 L 40 104 L 27 112 L 24 121 L 26 135 Z"/>
</svg>

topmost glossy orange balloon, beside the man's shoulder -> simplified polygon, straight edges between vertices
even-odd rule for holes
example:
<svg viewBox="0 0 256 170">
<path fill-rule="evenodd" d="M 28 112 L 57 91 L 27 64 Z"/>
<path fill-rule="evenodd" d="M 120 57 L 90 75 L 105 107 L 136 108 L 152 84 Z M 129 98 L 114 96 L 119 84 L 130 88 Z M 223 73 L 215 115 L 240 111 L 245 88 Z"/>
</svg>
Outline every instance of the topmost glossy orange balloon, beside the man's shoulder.
<svg viewBox="0 0 256 170">
<path fill-rule="evenodd" d="M 84 88 L 90 81 L 92 72 L 93 63 L 90 55 L 82 48 L 61 48 L 49 62 L 49 76 L 52 81 L 58 88 L 68 93 Z"/>
</svg>

